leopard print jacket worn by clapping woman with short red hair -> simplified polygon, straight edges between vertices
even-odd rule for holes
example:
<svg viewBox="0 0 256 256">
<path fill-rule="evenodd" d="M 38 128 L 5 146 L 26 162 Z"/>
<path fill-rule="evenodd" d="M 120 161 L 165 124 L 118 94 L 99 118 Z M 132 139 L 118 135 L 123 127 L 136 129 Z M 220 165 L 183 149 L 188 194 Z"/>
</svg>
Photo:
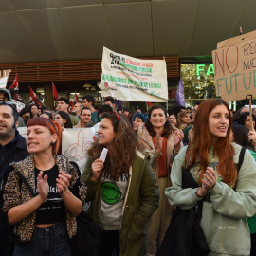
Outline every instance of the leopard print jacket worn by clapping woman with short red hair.
<svg viewBox="0 0 256 256">
<path fill-rule="evenodd" d="M 56 159 L 58 170 L 71 175 L 69 190 L 73 192 L 75 196 L 80 198 L 83 205 L 85 202 L 86 187 L 81 182 L 81 174 L 77 164 L 74 162 L 68 162 L 67 157 L 64 155 L 55 155 L 54 157 Z M 33 192 L 36 192 L 33 156 L 29 155 L 25 160 L 13 162 L 10 166 L 12 171 L 9 173 L 4 193 L 3 211 L 6 213 L 8 213 L 8 210 L 12 207 L 26 203 L 33 198 L 33 195 L 28 191 L 24 182 L 20 182 L 20 177 L 17 174 L 18 172 L 26 178 Z M 22 242 L 31 240 L 35 219 L 36 211 L 32 212 L 25 219 L 15 224 L 14 233 L 19 236 Z M 66 210 L 66 228 L 70 238 L 77 232 L 76 217 L 68 210 Z"/>
</svg>

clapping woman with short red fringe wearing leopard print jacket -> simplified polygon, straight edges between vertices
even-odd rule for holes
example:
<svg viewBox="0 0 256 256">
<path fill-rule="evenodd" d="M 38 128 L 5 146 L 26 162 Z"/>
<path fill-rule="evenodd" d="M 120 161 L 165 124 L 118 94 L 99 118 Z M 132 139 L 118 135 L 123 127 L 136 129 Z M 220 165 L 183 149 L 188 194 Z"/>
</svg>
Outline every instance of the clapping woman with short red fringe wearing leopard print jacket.
<svg viewBox="0 0 256 256">
<path fill-rule="evenodd" d="M 13 162 L 3 210 L 15 225 L 13 255 L 71 255 L 76 215 L 85 201 L 76 163 L 60 152 L 61 125 L 53 120 L 27 121 L 29 156 Z"/>
</svg>

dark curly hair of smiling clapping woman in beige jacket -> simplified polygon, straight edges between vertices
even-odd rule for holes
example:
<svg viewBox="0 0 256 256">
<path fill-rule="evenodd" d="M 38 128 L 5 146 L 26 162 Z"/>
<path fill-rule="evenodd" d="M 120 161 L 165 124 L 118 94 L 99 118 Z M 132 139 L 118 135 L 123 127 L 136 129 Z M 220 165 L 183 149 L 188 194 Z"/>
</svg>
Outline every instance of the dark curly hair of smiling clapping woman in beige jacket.
<svg viewBox="0 0 256 256">
<path fill-rule="evenodd" d="M 153 128 L 153 125 L 150 121 L 151 119 L 151 115 L 153 110 L 155 109 L 161 109 L 164 112 L 164 115 L 166 117 L 166 122 L 164 124 L 164 129 L 163 129 L 163 133 L 162 133 L 162 137 L 170 137 L 170 135 L 173 133 L 174 131 L 174 126 L 168 121 L 167 119 L 167 111 L 166 109 L 161 106 L 161 105 L 155 105 L 153 106 L 150 110 L 149 110 L 149 118 L 147 119 L 147 121 L 145 122 L 145 127 L 148 130 L 149 134 L 151 135 L 151 137 L 155 137 L 156 136 L 156 132 Z"/>
</svg>

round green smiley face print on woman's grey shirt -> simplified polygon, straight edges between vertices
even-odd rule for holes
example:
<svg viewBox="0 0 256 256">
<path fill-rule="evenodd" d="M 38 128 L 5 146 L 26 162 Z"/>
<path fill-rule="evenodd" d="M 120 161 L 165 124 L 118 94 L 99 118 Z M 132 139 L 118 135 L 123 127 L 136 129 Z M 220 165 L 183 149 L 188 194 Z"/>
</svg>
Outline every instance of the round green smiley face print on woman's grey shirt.
<svg viewBox="0 0 256 256">
<path fill-rule="evenodd" d="M 114 205 L 119 202 L 121 192 L 119 187 L 112 182 L 104 182 L 101 185 L 101 198 L 108 205 Z"/>
</svg>

